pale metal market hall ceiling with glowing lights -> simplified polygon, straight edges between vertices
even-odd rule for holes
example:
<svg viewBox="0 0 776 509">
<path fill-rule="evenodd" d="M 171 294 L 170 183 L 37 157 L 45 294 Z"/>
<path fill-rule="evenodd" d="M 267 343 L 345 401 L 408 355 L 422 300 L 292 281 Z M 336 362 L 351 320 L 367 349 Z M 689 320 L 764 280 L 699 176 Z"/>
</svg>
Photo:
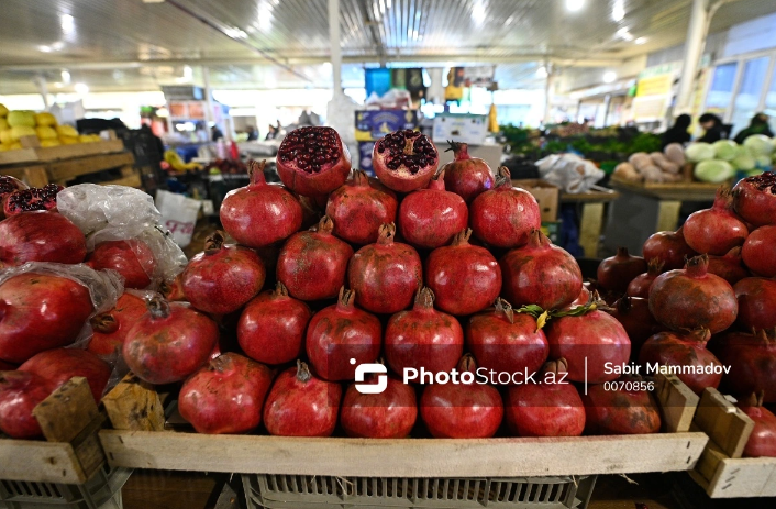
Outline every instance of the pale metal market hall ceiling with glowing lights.
<svg viewBox="0 0 776 509">
<path fill-rule="evenodd" d="M 502 88 L 535 81 L 541 63 L 603 67 L 681 43 L 690 0 L 340 0 L 343 84 L 364 65 L 494 63 Z M 624 18 L 612 19 L 612 7 Z M 2 0 L 0 93 L 331 87 L 326 0 Z M 711 31 L 776 11 L 774 0 L 723 5 Z M 640 38 L 643 37 L 643 38 Z M 636 41 L 643 44 L 636 44 Z M 188 67 L 188 68 L 187 68 Z M 67 69 L 70 84 L 63 84 Z"/>
</svg>

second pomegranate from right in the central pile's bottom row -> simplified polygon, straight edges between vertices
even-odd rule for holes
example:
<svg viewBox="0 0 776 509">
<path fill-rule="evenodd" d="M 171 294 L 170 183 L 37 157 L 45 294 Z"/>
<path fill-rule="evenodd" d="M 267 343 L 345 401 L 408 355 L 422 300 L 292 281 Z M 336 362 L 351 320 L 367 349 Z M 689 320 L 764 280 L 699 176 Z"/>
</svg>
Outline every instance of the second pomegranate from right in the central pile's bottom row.
<svg viewBox="0 0 776 509">
<path fill-rule="evenodd" d="M 535 384 L 507 390 L 506 418 L 518 436 L 579 436 L 585 430 L 585 406 L 574 385 L 565 380 L 565 358 L 548 362 Z"/>
</svg>

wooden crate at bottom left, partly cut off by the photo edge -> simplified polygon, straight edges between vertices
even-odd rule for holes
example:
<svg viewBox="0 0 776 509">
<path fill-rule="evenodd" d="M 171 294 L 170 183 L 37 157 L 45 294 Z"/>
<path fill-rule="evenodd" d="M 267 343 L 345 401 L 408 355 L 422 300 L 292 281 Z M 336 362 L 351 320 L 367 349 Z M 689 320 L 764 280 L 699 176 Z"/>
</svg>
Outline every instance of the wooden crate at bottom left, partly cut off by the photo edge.
<svg viewBox="0 0 776 509">
<path fill-rule="evenodd" d="M 76 377 L 33 410 L 46 441 L 0 439 L 0 479 L 84 484 L 104 464 L 100 414 L 86 378 Z"/>
</svg>

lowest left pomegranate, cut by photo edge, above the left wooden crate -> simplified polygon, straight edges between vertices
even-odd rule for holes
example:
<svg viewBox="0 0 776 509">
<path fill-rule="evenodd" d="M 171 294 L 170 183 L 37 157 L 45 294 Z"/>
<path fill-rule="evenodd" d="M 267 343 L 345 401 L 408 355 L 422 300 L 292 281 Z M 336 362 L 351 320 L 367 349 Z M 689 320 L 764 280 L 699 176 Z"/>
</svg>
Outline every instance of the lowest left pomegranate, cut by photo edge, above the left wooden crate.
<svg viewBox="0 0 776 509">
<path fill-rule="evenodd" d="M 36 439 L 43 434 L 33 409 L 53 391 L 51 381 L 34 373 L 0 372 L 0 431 L 12 439 Z"/>
</svg>

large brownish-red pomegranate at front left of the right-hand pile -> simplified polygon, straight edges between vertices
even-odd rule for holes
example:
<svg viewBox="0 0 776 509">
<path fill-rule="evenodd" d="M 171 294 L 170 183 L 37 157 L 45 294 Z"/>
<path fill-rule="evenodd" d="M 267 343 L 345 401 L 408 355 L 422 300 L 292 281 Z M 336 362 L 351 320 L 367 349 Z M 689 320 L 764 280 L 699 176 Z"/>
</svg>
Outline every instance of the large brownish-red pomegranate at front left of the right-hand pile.
<svg viewBox="0 0 776 509">
<path fill-rule="evenodd" d="M 679 270 L 661 274 L 650 290 L 650 311 L 673 330 L 709 329 L 712 334 L 733 324 L 739 311 L 733 287 L 708 274 L 709 257 L 690 258 Z"/>
</svg>

